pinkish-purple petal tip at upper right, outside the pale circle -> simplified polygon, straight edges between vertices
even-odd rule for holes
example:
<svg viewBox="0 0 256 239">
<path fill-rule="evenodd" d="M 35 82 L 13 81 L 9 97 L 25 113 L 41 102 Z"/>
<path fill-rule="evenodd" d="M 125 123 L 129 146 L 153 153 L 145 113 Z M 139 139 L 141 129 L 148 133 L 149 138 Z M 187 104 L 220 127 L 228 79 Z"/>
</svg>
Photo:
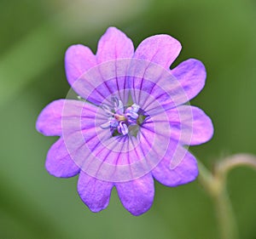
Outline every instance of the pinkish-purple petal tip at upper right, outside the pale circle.
<svg viewBox="0 0 256 239">
<path fill-rule="evenodd" d="M 200 60 L 195 59 L 183 61 L 171 72 L 174 77 L 177 77 L 179 83 L 181 83 L 189 100 L 201 92 L 207 78 L 205 66 Z"/>
</svg>

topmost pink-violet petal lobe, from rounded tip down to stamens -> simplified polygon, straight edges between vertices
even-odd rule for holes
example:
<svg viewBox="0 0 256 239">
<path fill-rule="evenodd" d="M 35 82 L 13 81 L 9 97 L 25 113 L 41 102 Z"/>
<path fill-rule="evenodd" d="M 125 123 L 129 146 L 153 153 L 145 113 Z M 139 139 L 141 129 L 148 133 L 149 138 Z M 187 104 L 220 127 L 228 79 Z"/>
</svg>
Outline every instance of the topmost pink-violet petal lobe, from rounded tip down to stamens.
<svg viewBox="0 0 256 239">
<path fill-rule="evenodd" d="M 109 27 L 102 35 L 98 43 L 96 58 L 99 64 L 98 71 L 103 83 L 96 87 L 96 91 L 103 94 L 105 99 L 111 94 L 118 94 L 119 99 L 125 104 L 127 103 L 128 97 L 122 92 L 128 85 L 126 77 L 124 77 L 126 74 L 123 72 L 126 71 L 130 60 L 116 60 L 131 59 L 133 54 L 133 43 L 129 37 L 126 37 L 124 32 L 115 27 Z M 101 63 L 103 65 L 100 65 Z M 93 97 L 96 91 L 92 92 L 90 97 Z"/>
</svg>

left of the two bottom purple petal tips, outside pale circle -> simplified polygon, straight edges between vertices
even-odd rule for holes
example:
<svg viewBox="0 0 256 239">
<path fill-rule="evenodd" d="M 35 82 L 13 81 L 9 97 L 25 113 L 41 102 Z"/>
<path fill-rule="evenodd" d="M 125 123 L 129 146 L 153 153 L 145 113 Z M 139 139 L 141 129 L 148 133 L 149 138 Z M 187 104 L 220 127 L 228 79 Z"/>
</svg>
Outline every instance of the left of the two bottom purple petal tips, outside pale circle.
<svg viewBox="0 0 256 239">
<path fill-rule="evenodd" d="M 108 207 L 113 183 L 90 177 L 83 171 L 79 174 L 79 196 L 94 213 Z"/>
</svg>

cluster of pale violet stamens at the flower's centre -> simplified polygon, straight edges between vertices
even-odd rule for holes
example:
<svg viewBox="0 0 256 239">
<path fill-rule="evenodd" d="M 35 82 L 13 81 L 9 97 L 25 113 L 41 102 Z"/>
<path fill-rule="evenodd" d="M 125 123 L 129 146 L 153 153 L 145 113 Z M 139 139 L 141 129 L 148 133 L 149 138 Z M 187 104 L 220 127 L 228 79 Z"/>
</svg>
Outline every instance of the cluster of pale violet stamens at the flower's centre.
<svg viewBox="0 0 256 239">
<path fill-rule="evenodd" d="M 125 107 L 117 97 L 111 98 L 111 106 L 102 104 L 102 110 L 108 115 L 108 122 L 101 128 L 109 128 L 113 136 L 131 134 L 137 136 L 138 126 L 145 117 L 137 104 Z"/>
</svg>

